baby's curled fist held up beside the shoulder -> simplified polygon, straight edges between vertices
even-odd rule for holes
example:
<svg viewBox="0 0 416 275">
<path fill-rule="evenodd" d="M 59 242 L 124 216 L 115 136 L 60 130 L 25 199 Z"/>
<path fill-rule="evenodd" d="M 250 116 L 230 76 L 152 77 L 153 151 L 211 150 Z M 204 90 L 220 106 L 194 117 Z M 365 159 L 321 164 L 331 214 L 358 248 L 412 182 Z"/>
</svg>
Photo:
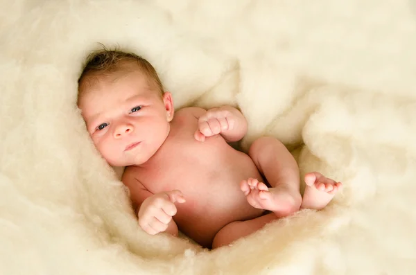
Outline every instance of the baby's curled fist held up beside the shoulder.
<svg viewBox="0 0 416 275">
<path fill-rule="evenodd" d="M 236 118 L 227 109 L 209 109 L 198 119 L 198 130 L 194 136 L 197 141 L 205 141 L 205 137 L 214 136 L 225 131 L 233 130 Z"/>
</svg>

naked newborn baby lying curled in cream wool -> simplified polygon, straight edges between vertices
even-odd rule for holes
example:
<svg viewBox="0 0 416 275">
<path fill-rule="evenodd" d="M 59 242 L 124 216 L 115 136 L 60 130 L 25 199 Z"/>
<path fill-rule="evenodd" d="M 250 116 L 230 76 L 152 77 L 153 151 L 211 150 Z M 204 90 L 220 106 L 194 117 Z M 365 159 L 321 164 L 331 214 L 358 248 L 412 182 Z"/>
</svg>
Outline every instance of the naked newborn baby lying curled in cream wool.
<svg viewBox="0 0 416 275">
<path fill-rule="evenodd" d="M 178 229 L 208 248 L 229 245 L 299 209 L 322 209 L 342 188 L 319 172 L 300 171 L 272 137 L 234 150 L 247 122 L 238 109 L 180 109 L 152 65 L 133 53 L 90 55 L 78 80 L 78 107 L 97 150 L 127 166 L 139 226 L 154 235 Z"/>
</svg>

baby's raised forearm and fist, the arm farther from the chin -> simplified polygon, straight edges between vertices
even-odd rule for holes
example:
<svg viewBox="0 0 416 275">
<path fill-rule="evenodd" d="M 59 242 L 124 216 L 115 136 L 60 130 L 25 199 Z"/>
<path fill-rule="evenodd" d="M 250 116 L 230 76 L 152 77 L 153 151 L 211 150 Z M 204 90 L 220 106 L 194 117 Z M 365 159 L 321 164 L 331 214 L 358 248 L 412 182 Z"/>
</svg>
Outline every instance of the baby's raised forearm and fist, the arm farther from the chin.
<svg viewBox="0 0 416 275">
<path fill-rule="evenodd" d="M 241 112 L 232 106 L 209 109 L 198 118 L 195 139 L 205 141 L 205 137 L 221 134 L 225 140 L 239 141 L 247 133 L 247 121 Z"/>
</svg>

